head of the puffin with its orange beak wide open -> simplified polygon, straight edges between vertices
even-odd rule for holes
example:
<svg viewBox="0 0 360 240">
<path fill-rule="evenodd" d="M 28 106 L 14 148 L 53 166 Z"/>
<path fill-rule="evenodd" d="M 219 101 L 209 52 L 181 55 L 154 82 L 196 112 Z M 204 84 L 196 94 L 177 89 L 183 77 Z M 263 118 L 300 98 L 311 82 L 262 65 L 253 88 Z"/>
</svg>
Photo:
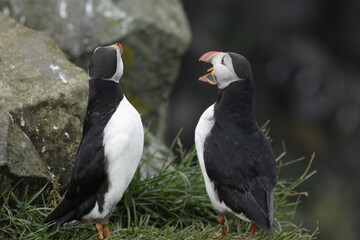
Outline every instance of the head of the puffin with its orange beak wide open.
<svg viewBox="0 0 360 240">
<path fill-rule="evenodd" d="M 205 76 L 199 78 L 210 84 L 217 84 L 224 89 L 235 81 L 252 82 L 251 66 L 248 60 L 240 54 L 232 52 L 208 52 L 202 55 L 200 61 L 213 65 Z"/>
</svg>

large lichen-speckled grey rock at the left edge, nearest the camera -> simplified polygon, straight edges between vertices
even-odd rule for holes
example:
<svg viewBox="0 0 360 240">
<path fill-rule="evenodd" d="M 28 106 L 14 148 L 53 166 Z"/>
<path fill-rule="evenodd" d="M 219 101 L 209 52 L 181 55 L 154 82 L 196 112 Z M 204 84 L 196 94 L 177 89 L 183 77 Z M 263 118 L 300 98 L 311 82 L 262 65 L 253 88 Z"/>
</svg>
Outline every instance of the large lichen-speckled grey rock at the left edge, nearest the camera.
<svg viewBox="0 0 360 240">
<path fill-rule="evenodd" d="M 0 14 L 1 187 L 70 178 L 86 108 L 87 75 L 44 33 Z"/>
</svg>

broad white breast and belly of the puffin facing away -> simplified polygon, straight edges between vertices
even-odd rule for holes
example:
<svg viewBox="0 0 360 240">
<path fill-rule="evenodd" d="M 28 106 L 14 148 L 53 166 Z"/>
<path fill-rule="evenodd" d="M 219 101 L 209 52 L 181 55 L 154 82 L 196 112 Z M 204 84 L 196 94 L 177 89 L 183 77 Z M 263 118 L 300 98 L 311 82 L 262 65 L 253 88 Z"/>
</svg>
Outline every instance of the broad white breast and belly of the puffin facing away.
<svg viewBox="0 0 360 240">
<path fill-rule="evenodd" d="M 139 165 L 144 146 L 144 129 L 139 113 L 124 98 L 104 129 L 104 154 L 107 161 L 109 189 L 104 209 L 98 203 L 84 220 L 106 219 L 120 201 Z"/>
</svg>

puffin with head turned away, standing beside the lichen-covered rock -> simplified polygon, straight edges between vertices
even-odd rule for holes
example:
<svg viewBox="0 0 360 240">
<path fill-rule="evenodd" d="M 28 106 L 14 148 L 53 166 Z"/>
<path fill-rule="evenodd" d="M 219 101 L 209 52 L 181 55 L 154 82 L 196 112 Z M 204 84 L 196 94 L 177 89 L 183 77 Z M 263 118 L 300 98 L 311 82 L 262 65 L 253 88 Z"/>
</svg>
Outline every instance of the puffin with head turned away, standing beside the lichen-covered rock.
<svg viewBox="0 0 360 240">
<path fill-rule="evenodd" d="M 44 220 L 48 232 L 73 222 L 95 223 L 98 238 L 132 180 L 144 145 L 140 114 L 125 97 L 119 43 L 94 50 L 89 65 L 89 96 L 73 173 L 63 200 Z"/>
</svg>

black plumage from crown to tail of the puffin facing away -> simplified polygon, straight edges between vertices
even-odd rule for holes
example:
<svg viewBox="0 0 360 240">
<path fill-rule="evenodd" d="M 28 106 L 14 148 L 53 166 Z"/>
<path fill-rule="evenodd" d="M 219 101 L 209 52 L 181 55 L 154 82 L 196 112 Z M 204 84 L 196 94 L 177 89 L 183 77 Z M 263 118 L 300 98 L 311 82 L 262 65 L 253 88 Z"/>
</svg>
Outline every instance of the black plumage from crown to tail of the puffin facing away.
<svg viewBox="0 0 360 240">
<path fill-rule="evenodd" d="M 106 68 L 99 69 L 97 65 L 102 66 L 103 64 L 99 59 L 105 61 L 107 57 L 110 58 L 107 69 L 109 74 L 104 72 Z M 91 60 L 89 74 L 92 78 L 89 80 L 89 98 L 84 119 L 83 137 L 78 148 L 71 183 L 65 198 L 45 219 L 45 222 L 55 222 L 48 229 L 49 232 L 66 222 L 80 220 L 82 216 L 90 212 L 96 201 L 99 204 L 99 210 L 102 211 L 104 194 L 109 186 L 105 169 L 106 156 L 104 155 L 103 132 L 124 95 L 118 83 L 94 76 L 102 75 L 105 79 L 108 76 L 113 76 L 116 72 L 116 67 L 113 70 L 113 62 L 116 65 L 116 50 L 105 49 L 102 51 L 102 48 L 95 51 Z"/>
</svg>

